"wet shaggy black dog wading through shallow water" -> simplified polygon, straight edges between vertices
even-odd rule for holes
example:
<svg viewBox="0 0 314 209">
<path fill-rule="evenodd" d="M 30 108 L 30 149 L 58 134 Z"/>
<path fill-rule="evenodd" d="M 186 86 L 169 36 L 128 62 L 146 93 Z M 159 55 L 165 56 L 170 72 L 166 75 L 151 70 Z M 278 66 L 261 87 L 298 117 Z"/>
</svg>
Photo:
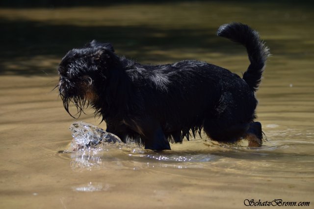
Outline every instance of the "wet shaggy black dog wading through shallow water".
<svg viewBox="0 0 314 209">
<path fill-rule="evenodd" d="M 204 128 L 219 142 L 249 138 L 262 144 L 262 127 L 254 122 L 261 81 L 269 55 L 249 26 L 220 26 L 218 36 L 244 45 L 250 65 L 243 78 L 205 62 L 142 65 L 117 56 L 110 44 L 92 41 L 63 57 L 58 72 L 60 96 L 67 112 L 73 102 L 81 113 L 91 106 L 106 122 L 106 131 L 145 149 L 169 150 Z"/>
</svg>

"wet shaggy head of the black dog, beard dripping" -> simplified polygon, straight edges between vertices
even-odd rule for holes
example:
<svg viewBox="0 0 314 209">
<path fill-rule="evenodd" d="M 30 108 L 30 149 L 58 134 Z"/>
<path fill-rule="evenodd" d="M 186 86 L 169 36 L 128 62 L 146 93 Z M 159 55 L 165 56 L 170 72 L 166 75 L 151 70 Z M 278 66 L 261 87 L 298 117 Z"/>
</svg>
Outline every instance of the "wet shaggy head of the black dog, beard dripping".
<svg viewBox="0 0 314 209">
<path fill-rule="evenodd" d="M 72 117 L 69 112 L 71 102 L 79 115 L 85 107 L 96 103 L 99 91 L 105 86 L 107 72 L 117 59 L 111 44 L 95 40 L 85 48 L 69 51 L 62 58 L 58 66 L 60 78 L 57 88 L 64 108 Z"/>
</svg>

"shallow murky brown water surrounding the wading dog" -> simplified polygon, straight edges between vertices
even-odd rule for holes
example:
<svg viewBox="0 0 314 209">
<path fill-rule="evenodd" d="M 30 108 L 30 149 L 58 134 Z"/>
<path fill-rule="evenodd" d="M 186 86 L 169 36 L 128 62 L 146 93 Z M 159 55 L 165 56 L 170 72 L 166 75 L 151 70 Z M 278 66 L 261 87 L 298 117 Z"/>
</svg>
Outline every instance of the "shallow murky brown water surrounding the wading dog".
<svg viewBox="0 0 314 209">
<path fill-rule="evenodd" d="M 261 148 L 198 137 L 162 153 L 57 153 L 75 121 L 52 91 L 65 52 L 97 39 L 143 63 L 198 59 L 241 74 L 245 49 L 215 36 L 233 21 L 256 28 L 273 54 L 257 93 Z M 271 2 L 0 9 L 0 208 L 230 209 L 245 199 L 314 208 L 313 21 L 312 5 Z"/>
</svg>

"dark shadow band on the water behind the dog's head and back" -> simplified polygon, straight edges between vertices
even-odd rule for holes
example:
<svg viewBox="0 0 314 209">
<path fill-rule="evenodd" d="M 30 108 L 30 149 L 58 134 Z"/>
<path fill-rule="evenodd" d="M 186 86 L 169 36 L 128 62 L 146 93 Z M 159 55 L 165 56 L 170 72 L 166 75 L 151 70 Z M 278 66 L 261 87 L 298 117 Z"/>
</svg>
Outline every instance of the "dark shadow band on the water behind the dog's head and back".
<svg viewBox="0 0 314 209">
<path fill-rule="evenodd" d="M 0 75 L 36 75 L 41 71 L 33 66 L 8 69 L 5 61 L 18 58 L 52 55 L 60 59 L 73 48 L 81 48 L 89 41 L 113 44 L 119 55 L 139 62 L 154 60 L 147 51 L 167 51 L 171 49 L 205 50 L 217 52 L 222 40 L 216 37 L 216 28 L 203 29 L 156 29 L 145 26 L 73 26 L 47 25 L 32 21 L 0 20 L 2 50 L 0 52 Z M 140 35 L 139 35 L 140 34 Z M 221 51 L 221 49 L 220 49 Z M 232 48 L 228 52 L 236 52 Z M 119 53 L 120 52 L 120 53 Z M 126 53 L 121 53 L 126 52 Z M 182 54 L 182 59 L 187 58 Z M 156 61 L 174 59 L 169 54 L 158 54 Z M 55 69 L 45 69 L 55 74 Z"/>
</svg>

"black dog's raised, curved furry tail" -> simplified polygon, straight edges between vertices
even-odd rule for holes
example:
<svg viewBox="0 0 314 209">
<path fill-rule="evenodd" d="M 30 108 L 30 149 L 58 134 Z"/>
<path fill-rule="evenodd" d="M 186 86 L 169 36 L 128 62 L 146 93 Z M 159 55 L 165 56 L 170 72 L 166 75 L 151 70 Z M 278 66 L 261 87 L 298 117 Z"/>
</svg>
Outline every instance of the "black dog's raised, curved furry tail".
<svg viewBox="0 0 314 209">
<path fill-rule="evenodd" d="M 220 26 L 217 35 L 246 47 L 251 63 L 243 74 L 243 79 L 252 91 L 257 91 L 266 65 L 266 59 L 270 55 L 268 48 L 260 40 L 259 33 L 242 23 L 231 23 Z"/>
</svg>

